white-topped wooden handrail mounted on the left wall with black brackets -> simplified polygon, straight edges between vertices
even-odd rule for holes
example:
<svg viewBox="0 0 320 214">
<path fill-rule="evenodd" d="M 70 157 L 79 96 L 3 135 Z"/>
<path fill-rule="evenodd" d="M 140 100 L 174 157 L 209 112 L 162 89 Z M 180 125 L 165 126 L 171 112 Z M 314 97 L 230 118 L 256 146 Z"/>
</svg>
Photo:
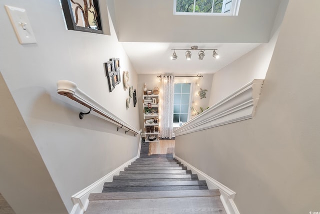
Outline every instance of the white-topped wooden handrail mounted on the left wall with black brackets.
<svg viewBox="0 0 320 214">
<path fill-rule="evenodd" d="M 68 80 L 59 80 L 56 83 L 57 86 L 57 93 L 63 96 L 66 96 L 70 98 L 71 100 L 74 100 L 81 105 L 91 109 L 92 111 L 95 111 L 96 113 L 102 115 L 103 117 L 107 118 L 107 120 L 111 123 L 114 123 L 116 125 L 120 125 L 121 127 L 118 128 L 126 128 L 128 130 L 125 131 L 131 131 L 136 134 L 140 134 L 141 130 L 137 130 L 136 128 L 130 126 L 108 110 L 106 110 L 103 106 L 101 106 L 99 103 L 97 103 L 95 100 L 93 100 L 91 97 L 89 97 L 87 94 L 82 92 L 74 82 L 68 81 Z M 80 113 L 81 114 L 81 113 Z M 82 113 L 83 114 L 83 113 Z"/>
</svg>

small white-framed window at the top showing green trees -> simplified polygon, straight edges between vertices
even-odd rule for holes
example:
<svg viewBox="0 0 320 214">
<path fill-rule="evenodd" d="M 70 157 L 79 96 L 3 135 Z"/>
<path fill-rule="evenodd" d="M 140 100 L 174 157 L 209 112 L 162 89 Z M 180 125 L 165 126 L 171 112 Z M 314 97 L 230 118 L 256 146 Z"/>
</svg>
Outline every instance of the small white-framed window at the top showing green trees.
<svg viewBox="0 0 320 214">
<path fill-rule="evenodd" d="M 240 0 L 174 0 L 174 15 L 236 16 Z"/>
</svg>

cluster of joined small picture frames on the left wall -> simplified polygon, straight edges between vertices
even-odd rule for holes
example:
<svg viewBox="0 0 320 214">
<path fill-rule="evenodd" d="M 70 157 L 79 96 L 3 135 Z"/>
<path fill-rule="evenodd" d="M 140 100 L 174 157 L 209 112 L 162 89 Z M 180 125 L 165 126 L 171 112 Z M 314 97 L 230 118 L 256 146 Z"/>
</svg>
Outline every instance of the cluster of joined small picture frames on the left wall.
<svg viewBox="0 0 320 214">
<path fill-rule="evenodd" d="M 119 60 L 119 59 L 117 59 Z M 118 64 L 119 65 L 119 64 Z M 110 61 L 104 63 L 105 75 L 108 80 L 109 91 L 113 91 L 115 86 L 121 82 L 120 67 L 115 68 L 115 59 L 111 58 Z"/>
</svg>

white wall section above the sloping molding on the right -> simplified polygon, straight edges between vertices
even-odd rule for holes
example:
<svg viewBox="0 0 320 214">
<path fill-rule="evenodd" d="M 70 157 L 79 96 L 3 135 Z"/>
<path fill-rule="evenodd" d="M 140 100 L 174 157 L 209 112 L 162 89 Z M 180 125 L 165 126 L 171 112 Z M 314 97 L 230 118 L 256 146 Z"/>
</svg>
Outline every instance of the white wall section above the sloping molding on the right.
<svg viewBox="0 0 320 214">
<path fill-rule="evenodd" d="M 264 79 L 273 54 L 288 1 L 280 2 L 270 40 L 214 73 L 209 106 L 217 103 L 254 79 Z"/>
</svg>

